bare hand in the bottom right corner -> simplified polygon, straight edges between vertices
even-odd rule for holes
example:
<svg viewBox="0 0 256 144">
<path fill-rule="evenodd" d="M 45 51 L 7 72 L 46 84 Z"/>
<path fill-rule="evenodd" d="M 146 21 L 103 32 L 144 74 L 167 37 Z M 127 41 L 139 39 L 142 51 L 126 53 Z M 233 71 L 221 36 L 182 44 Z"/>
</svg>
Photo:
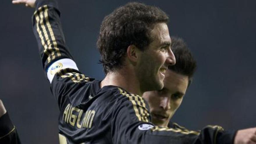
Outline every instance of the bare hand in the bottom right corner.
<svg viewBox="0 0 256 144">
<path fill-rule="evenodd" d="M 234 144 L 256 144 L 256 127 L 237 131 Z"/>
</svg>

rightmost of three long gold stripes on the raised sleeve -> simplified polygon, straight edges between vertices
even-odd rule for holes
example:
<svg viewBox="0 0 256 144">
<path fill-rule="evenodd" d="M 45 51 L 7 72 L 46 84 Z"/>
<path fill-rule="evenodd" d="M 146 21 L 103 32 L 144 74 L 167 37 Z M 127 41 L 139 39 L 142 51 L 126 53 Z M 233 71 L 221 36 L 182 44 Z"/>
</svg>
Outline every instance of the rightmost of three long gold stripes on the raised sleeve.
<svg viewBox="0 0 256 144">
<path fill-rule="evenodd" d="M 51 28 L 51 24 L 49 22 L 48 7 L 47 7 L 47 5 L 45 5 L 43 7 L 45 8 L 45 21 L 46 21 L 46 25 L 47 25 L 47 28 L 49 30 L 50 36 L 51 36 L 51 40 L 52 40 L 54 49 L 56 50 L 57 56 L 61 56 L 60 50 L 57 47 L 57 42 L 56 42 L 53 30 Z"/>
</svg>

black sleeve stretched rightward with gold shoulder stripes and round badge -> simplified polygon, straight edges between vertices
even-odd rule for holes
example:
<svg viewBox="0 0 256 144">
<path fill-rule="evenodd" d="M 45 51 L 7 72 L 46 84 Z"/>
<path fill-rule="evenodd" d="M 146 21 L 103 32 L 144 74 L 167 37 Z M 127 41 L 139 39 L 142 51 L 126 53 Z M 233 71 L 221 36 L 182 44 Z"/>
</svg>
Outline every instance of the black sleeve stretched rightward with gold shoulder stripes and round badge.
<svg viewBox="0 0 256 144">
<path fill-rule="evenodd" d="M 158 127 L 150 122 L 150 112 L 143 98 L 127 94 L 116 105 L 112 134 L 114 143 L 175 143 L 175 144 L 232 144 L 234 132 L 227 133 L 218 126 L 208 126 L 202 131 L 181 127 Z"/>
</svg>

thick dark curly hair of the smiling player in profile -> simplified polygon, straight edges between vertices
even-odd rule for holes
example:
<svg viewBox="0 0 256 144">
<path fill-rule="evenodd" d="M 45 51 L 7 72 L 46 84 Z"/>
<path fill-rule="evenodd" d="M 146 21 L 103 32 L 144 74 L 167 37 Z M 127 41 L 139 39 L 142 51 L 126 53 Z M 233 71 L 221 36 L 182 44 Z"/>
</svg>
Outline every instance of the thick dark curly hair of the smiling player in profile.
<svg viewBox="0 0 256 144">
<path fill-rule="evenodd" d="M 168 19 L 160 8 L 138 2 L 127 3 L 107 15 L 97 41 L 105 74 L 122 67 L 129 45 L 143 51 L 152 42 L 154 24 L 167 24 Z"/>
</svg>

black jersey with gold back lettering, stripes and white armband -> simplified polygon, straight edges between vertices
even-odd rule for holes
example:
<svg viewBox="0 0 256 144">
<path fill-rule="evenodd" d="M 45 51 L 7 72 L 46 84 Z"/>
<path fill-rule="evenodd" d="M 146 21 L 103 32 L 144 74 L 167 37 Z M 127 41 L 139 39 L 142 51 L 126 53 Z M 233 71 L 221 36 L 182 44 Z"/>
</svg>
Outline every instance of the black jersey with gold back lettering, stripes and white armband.
<svg viewBox="0 0 256 144">
<path fill-rule="evenodd" d="M 223 136 L 205 133 L 202 138 L 198 131 L 157 127 L 141 96 L 117 86 L 100 88 L 100 81 L 81 74 L 67 50 L 55 1 L 36 1 L 33 30 L 60 109 L 60 143 L 209 144 Z M 225 138 L 231 143 L 233 135 Z"/>
</svg>

